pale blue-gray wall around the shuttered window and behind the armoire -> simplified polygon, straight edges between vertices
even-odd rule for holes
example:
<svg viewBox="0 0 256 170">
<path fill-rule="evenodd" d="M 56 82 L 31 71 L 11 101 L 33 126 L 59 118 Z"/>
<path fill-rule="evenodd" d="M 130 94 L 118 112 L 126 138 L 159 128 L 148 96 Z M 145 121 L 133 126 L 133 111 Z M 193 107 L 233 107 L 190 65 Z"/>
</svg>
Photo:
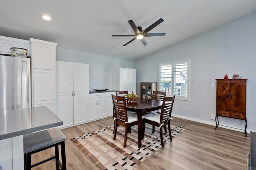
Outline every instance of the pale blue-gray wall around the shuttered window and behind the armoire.
<svg viewBox="0 0 256 170">
<path fill-rule="evenodd" d="M 166 31 L 168 33 L 168 31 Z M 173 114 L 212 123 L 216 114 L 217 78 L 226 73 L 247 80 L 247 120 L 256 131 L 256 13 L 227 23 L 134 62 L 137 94 L 140 82 L 158 82 L 158 63 L 191 59 L 191 101 L 176 100 Z M 220 125 L 244 129 L 243 120 L 219 117 Z"/>
</svg>

